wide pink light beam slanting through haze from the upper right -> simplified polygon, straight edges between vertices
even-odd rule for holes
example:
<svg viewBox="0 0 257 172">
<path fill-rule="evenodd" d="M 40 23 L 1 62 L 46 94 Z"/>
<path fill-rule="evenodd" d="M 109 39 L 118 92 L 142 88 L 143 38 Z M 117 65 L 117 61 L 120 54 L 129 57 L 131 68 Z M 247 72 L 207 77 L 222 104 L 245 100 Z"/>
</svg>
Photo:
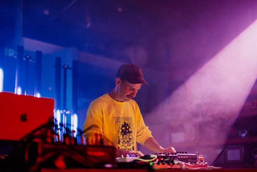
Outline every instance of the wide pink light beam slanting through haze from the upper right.
<svg viewBox="0 0 257 172">
<path fill-rule="evenodd" d="M 213 161 L 256 81 L 256 46 L 257 21 L 147 115 L 157 141 Z"/>
</svg>

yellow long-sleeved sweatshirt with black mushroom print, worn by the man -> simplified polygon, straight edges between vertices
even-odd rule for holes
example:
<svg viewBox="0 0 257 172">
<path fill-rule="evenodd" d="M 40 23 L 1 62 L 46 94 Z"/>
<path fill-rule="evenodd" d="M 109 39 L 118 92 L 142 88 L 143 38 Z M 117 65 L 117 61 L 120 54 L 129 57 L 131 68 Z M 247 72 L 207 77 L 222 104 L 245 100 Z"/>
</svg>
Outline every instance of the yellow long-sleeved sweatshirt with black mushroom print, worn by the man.
<svg viewBox="0 0 257 172">
<path fill-rule="evenodd" d="M 83 132 L 88 145 L 101 139 L 105 145 L 127 151 L 136 151 L 136 142 L 144 145 L 152 137 L 136 101 L 119 102 L 108 94 L 90 104 Z"/>
</svg>

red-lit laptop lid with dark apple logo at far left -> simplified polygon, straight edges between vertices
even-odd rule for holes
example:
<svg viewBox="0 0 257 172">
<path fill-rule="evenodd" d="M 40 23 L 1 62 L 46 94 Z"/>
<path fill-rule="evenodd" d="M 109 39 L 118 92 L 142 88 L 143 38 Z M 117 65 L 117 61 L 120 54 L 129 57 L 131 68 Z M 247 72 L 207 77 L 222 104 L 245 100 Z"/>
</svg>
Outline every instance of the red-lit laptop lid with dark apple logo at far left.
<svg viewBox="0 0 257 172">
<path fill-rule="evenodd" d="M 0 140 L 18 141 L 53 118 L 54 99 L 0 93 Z"/>
</svg>

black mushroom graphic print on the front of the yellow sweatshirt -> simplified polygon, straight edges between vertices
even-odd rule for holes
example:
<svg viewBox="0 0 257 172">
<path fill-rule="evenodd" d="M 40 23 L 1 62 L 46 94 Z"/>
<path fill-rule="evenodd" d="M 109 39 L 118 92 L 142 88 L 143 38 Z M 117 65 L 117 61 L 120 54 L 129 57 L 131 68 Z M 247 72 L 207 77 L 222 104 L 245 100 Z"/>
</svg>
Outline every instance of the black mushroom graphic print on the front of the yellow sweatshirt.
<svg viewBox="0 0 257 172">
<path fill-rule="evenodd" d="M 115 131 L 118 133 L 118 148 L 127 151 L 135 150 L 132 117 L 114 117 L 114 120 Z"/>
</svg>

